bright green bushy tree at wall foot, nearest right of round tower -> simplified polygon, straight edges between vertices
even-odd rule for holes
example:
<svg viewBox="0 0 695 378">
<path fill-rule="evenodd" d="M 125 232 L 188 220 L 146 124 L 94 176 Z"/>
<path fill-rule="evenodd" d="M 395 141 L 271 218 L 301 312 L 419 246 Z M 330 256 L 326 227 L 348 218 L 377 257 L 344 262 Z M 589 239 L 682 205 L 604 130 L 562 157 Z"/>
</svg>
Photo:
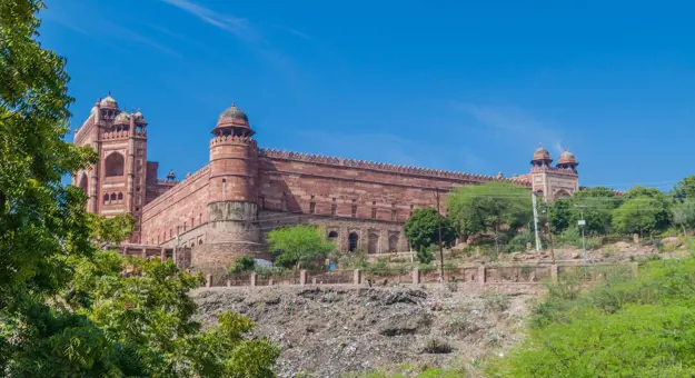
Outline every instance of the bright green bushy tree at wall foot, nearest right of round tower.
<svg viewBox="0 0 695 378">
<path fill-rule="evenodd" d="M 317 227 L 307 225 L 275 229 L 266 239 L 276 253 L 275 263 L 282 267 L 306 266 L 325 258 L 336 248 L 322 238 Z"/>
</svg>

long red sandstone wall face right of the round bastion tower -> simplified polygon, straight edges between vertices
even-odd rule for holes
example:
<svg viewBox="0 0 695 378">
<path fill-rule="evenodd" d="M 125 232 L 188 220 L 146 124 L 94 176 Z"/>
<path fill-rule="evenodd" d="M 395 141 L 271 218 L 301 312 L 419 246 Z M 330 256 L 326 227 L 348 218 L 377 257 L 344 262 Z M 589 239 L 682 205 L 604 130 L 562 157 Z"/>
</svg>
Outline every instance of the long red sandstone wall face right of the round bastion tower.
<svg viewBox="0 0 695 378">
<path fill-rule="evenodd" d="M 474 180 L 276 158 L 260 160 L 259 181 L 264 202 L 259 205 L 265 210 L 282 211 L 285 193 L 289 212 L 309 213 L 309 203 L 314 201 L 317 215 L 330 216 L 335 203 L 337 216 L 351 217 L 353 205 L 356 205 L 357 218 L 373 219 L 373 208 L 376 208 L 377 220 L 400 223 L 408 219 L 413 209 L 436 207 L 436 188 L 440 190 L 444 209 L 450 189 L 476 183 Z M 391 210 L 396 210 L 395 220 Z"/>
</svg>

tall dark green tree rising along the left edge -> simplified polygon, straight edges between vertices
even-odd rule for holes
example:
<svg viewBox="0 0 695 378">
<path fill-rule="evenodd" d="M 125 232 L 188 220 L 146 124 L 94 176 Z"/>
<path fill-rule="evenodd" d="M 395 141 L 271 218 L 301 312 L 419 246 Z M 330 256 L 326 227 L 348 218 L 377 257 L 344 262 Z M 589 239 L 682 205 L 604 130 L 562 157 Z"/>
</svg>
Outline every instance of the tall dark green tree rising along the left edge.
<svg viewBox="0 0 695 378">
<path fill-rule="evenodd" d="M 46 304 L 70 280 L 68 259 L 92 252 L 86 195 L 60 180 L 96 155 L 63 140 L 72 99 L 66 60 L 36 40 L 43 8 L 0 2 L 0 371 L 9 377 L 110 371 L 123 357 L 83 317 Z"/>
</svg>

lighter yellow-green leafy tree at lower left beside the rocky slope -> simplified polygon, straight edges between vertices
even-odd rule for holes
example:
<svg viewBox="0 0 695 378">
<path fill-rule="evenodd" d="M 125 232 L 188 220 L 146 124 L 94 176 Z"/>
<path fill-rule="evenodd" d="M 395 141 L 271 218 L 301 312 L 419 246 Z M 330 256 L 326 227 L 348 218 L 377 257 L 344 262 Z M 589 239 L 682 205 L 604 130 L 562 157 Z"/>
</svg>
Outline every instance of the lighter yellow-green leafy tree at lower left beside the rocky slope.
<svg viewBox="0 0 695 378">
<path fill-rule="evenodd" d="M 181 272 L 170 260 L 126 260 L 112 252 L 75 267 L 66 304 L 113 347 L 129 351 L 140 375 L 272 377 L 278 351 L 268 341 L 242 338 L 254 327 L 250 319 L 226 312 L 207 331 L 193 320 L 197 306 L 188 291 L 203 282 L 201 276 Z M 123 270 L 127 277 L 120 277 Z M 254 361 L 246 360 L 250 356 Z"/>
</svg>

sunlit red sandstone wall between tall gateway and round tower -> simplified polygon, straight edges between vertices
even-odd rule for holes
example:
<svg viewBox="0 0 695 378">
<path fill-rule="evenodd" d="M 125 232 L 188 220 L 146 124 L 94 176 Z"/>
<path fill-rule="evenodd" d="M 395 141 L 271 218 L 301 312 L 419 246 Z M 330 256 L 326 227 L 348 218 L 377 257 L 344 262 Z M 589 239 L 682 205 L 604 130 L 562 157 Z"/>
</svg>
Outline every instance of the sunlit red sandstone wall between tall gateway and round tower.
<svg viewBox="0 0 695 378">
<path fill-rule="evenodd" d="M 208 166 L 187 177 L 142 209 L 146 243 L 176 246 L 202 241 L 208 211 Z"/>
</svg>

